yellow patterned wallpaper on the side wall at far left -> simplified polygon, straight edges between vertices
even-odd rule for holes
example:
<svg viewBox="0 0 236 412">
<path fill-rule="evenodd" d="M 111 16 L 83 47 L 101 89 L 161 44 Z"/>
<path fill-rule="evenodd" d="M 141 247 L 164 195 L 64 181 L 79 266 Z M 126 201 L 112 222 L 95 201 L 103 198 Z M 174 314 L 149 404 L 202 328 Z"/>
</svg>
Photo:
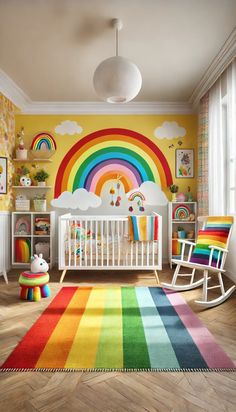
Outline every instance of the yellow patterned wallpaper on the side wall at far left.
<svg viewBox="0 0 236 412">
<path fill-rule="evenodd" d="M 15 106 L 0 93 L 0 156 L 8 158 L 8 192 L 0 194 L 0 210 L 10 210 L 12 195 L 12 156 L 15 148 Z"/>
</svg>

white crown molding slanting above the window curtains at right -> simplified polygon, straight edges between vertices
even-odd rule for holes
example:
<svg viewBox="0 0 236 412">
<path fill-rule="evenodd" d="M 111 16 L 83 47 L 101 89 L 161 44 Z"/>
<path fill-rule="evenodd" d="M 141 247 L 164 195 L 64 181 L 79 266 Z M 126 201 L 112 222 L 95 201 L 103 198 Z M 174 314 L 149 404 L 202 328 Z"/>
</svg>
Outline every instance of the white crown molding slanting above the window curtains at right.
<svg viewBox="0 0 236 412">
<path fill-rule="evenodd" d="M 196 107 L 200 99 L 213 86 L 227 66 L 236 57 L 236 27 L 213 59 L 198 85 L 195 87 L 189 102 Z"/>
</svg>

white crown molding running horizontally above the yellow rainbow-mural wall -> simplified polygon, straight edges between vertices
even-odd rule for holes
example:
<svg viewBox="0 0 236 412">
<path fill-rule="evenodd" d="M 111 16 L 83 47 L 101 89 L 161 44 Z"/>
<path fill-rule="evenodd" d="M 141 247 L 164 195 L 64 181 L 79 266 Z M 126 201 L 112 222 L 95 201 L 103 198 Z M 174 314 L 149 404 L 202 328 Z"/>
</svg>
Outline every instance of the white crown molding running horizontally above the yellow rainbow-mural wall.
<svg viewBox="0 0 236 412">
<path fill-rule="evenodd" d="M 188 102 L 31 102 L 24 106 L 24 114 L 190 114 Z"/>
</svg>

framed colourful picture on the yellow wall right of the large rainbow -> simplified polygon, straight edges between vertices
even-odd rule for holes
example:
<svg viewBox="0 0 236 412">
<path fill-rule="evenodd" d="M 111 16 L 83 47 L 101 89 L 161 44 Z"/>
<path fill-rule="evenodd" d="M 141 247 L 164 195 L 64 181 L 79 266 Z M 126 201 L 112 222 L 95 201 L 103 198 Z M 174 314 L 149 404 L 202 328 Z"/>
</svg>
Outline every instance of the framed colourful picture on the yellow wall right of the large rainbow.
<svg viewBox="0 0 236 412">
<path fill-rule="evenodd" d="M 176 177 L 194 177 L 194 150 L 176 149 L 175 151 L 175 174 Z"/>
</svg>

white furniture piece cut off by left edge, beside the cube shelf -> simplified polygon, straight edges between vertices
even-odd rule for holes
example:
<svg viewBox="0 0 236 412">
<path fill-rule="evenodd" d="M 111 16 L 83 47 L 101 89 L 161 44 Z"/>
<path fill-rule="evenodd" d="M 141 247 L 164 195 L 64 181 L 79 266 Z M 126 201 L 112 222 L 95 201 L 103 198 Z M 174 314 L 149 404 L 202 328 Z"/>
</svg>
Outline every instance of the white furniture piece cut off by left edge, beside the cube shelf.
<svg viewBox="0 0 236 412">
<path fill-rule="evenodd" d="M 10 269 L 10 212 L 0 211 L 0 276 L 6 283 L 7 271 Z"/>
</svg>

